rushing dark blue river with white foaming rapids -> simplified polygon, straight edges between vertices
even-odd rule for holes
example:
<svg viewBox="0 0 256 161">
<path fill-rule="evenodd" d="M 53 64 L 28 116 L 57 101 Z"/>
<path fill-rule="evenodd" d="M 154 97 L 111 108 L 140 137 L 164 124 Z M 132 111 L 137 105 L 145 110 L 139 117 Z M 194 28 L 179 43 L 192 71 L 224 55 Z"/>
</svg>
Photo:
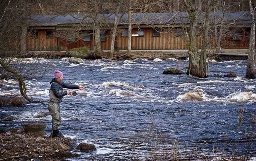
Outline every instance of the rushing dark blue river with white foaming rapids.
<svg viewBox="0 0 256 161">
<path fill-rule="evenodd" d="M 62 71 L 67 83 L 88 86 L 77 96 L 64 96 L 61 103 L 60 131 L 77 144 L 96 146 L 95 152 L 80 153 L 80 160 L 153 160 L 157 156 L 218 160 L 220 155 L 256 155 L 252 135 L 256 123 L 251 119 L 256 114 L 256 86 L 255 80 L 244 78 L 247 61 L 213 60 L 206 79 L 162 74 L 170 67 L 186 67 L 187 60 L 97 59 L 70 64 L 65 59 L 27 58 L 22 63 L 35 61 L 50 67 L 43 78 L 25 81 L 33 99 L 48 102 L 54 70 Z M 231 71 L 237 77 L 216 76 Z M 1 96 L 19 94 L 14 79 L 1 81 L 0 87 Z M 50 135 L 51 116 L 38 116 L 47 113 L 47 106 L 28 102 L 0 110 L 15 118 L 0 120 L 1 127 L 45 122 L 45 135 Z"/>
</svg>

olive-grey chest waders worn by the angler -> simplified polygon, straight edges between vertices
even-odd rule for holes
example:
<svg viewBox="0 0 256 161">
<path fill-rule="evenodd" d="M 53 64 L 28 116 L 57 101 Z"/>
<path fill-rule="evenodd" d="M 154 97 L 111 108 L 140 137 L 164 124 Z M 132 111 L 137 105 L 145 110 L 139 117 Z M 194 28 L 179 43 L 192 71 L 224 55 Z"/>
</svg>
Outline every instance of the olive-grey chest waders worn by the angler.
<svg viewBox="0 0 256 161">
<path fill-rule="evenodd" d="M 63 90 L 60 90 L 62 92 Z M 48 110 L 52 115 L 52 129 L 57 130 L 59 128 L 61 117 L 60 117 L 60 102 L 61 99 L 56 97 L 52 90 L 49 90 L 49 106 Z"/>
</svg>

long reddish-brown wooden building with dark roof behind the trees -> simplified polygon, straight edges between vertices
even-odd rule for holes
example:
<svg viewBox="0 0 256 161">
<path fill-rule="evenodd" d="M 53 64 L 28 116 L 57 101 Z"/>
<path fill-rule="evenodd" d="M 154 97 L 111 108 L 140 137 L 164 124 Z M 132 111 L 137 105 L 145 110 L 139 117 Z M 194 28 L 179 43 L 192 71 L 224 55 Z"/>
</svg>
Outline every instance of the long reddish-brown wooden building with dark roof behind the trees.
<svg viewBox="0 0 256 161">
<path fill-rule="evenodd" d="M 218 16 L 221 17 L 221 14 L 218 13 Z M 186 16 L 186 12 L 134 14 L 132 18 L 132 50 L 187 49 L 187 39 L 183 30 L 189 23 Z M 88 25 L 92 23 L 92 19 L 83 19 L 82 22 L 77 17 L 81 18 L 83 15 L 30 16 L 26 41 L 27 49 L 29 51 L 65 51 L 83 46 L 92 48 L 93 30 Z M 107 15 L 106 17 L 106 21 L 111 24 L 114 15 Z M 247 12 L 225 13 L 224 20 L 226 27 L 225 36 L 222 37 L 221 47 L 226 49 L 247 49 L 251 28 L 250 15 Z M 87 26 L 80 27 L 79 24 L 82 23 L 87 24 Z M 122 21 L 120 21 L 118 31 L 114 48 L 115 50 L 127 50 L 127 15 L 124 15 Z M 66 36 L 64 36 L 65 32 L 68 33 Z M 110 50 L 110 33 L 111 26 L 102 27 L 102 50 Z M 214 46 L 216 35 L 213 33 L 210 33 L 210 43 Z M 201 35 L 200 30 L 198 30 L 198 48 L 200 48 L 200 45 Z"/>
</svg>

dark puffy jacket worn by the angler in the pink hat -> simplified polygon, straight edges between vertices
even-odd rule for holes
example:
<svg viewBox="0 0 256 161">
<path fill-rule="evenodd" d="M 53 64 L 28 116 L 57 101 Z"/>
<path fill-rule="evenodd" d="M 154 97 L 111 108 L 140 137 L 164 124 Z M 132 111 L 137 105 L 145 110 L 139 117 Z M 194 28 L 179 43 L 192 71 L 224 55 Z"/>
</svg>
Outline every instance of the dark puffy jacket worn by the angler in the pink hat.
<svg viewBox="0 0 256 161">
<path fill-rule="evenodd" d="M 68 84 L 65 82 L 58 83 L 55 78 L 52 79 L 52 81 L 50 81 L 50 84 L 52 84 L 50 87 L 50 90 L 52 90 L 54 95 L 60 99 L 62 99 L 63 96 L 68 94 L 67 91 L 60 92 L 60 90 L 62 91 L 63 88 L 79 89 L 79 86 L 77 86 L 77 85 L 71 85 L 71 84 Z"/>
</svg>

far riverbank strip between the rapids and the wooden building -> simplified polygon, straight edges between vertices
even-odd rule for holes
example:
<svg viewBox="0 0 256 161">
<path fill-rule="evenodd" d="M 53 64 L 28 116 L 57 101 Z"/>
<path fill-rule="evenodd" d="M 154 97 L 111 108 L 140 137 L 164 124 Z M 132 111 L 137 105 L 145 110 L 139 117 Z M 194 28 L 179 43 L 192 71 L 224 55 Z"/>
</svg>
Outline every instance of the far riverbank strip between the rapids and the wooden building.
<svg viewBox="0 0 256 161">
<path fill-rule="evenodd" d="M 6 53 L 9 55 L 8 53 Z M 6 56 L 7 56 L 6 55 Z M 64 57 L 77 57 L 77 55 L 72 55 L 67 51 L 28 51 L 23 55 L 15 55 L 15 57 L 20 58 L 64 58 Z M 113 57 L 110 57 L 109 51 L 102 51 L 101 54 L 89 53 L 86 57 L 80 57 L 82 59 L 113 59 L 113 60 L 126 60 L 126 59 L 186 59 L 188 58 L 187 51 L 134 51 L 129 54 L 127 51 L 115 51 Z M 210 59 L 215 59 L 217 61 L 224 60 L 247 60 L 248 54 L 237 54 L 237 53 L 216 53 L 214 55 L 208 56 Z"/>
</svg>

